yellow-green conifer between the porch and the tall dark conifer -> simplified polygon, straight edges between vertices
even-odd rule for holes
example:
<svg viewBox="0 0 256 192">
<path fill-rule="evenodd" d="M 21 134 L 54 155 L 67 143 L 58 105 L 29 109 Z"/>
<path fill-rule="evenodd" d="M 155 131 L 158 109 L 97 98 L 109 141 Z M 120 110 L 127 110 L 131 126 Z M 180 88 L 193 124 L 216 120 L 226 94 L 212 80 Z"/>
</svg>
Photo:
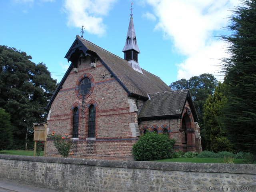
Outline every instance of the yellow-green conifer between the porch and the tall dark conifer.
<svg viewBox="0 0 256 192">
<path fill-rule="evenodd" d="M 204 104 L 206 149 L 214 152 L 232 150 L 232 144 L 224 131 L 224 124 L 220 121 L 220 117 L 223 116 L 222 108 L 226 101 L 223 90 L 224 84 L 219 82 L 213 96 L 209 95 Z"/>
</svg>

